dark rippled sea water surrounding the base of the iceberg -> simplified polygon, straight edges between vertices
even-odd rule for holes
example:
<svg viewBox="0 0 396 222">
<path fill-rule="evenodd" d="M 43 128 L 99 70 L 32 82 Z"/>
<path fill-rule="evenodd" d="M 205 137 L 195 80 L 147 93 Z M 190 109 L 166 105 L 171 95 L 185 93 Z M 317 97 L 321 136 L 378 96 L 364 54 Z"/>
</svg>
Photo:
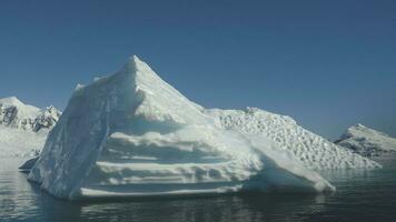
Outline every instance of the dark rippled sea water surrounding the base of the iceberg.
<svg viewBox="0 0 396 222">
<path fill-rule="evenodd" d="M 0 221 L 396 221 L 396 155 L 384 169 L 323 172 L 334 194 L 264 194 L 69 202 L 26 180 L 20 161 L 0 159 Z"/>
</svg>

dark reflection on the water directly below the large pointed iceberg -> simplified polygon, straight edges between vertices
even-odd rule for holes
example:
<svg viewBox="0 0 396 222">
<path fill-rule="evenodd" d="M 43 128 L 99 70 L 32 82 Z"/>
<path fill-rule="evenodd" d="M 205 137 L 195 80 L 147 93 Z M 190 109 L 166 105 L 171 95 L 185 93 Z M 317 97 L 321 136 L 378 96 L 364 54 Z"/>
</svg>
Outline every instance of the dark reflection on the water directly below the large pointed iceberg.
<svg viewBox="0 0 396 222">
<path fill-rule="evenodd" d="M 125 200 L 122 202 L 68 202 L 53 199 L 38 188 L 33 192 L 39 209 L 37 221 L 299 221 L 320 212 L 326 195 L 246 193 L 200 198 Z M 40 192 L 40 193 L 38 193 Z"/>
</svg>

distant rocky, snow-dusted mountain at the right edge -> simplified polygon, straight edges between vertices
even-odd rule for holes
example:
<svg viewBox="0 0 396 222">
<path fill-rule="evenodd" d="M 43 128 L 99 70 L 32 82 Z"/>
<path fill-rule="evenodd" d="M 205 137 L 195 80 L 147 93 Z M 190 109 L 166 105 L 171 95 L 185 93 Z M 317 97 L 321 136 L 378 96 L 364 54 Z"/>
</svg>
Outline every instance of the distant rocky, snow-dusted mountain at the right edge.
<svg viewBox="0 0 396 222">
<path fill-rule="evenodd" d="M 362 155 L 372 157 L 384 152 L 396 152 L 396 139 L 363 124 L 356 124 L 335 141 Z"/>
</svg>

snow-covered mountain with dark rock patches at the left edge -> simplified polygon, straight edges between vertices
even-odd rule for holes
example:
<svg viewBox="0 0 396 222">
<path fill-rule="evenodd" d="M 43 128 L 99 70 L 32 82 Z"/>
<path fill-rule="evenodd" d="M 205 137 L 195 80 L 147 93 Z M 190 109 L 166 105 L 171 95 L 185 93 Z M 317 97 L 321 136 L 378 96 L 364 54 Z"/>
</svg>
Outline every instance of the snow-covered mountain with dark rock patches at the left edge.
<svg viewBox="0 0 396 222">
<path fill-rule="evenodd" d="M 16 97 L 0 99 L 0 157 L 39 153 L 60 114 L 53 107 L 38 109 Z"/>
</svg>

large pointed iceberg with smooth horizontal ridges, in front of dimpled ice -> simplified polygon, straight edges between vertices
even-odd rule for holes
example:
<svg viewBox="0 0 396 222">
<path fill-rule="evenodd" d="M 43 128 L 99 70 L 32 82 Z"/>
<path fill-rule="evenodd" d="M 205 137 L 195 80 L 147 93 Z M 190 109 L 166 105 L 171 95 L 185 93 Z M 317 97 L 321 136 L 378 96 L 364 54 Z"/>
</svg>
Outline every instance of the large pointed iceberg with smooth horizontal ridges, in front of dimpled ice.
<svg viewBox="0 0 396 222">
<path fill-rule="evenodd" d="M 76 89 L 29 179 L 68 199 L 334 190 L 263 135 L 217 121 L 133 57 Z"/>
</svg>

